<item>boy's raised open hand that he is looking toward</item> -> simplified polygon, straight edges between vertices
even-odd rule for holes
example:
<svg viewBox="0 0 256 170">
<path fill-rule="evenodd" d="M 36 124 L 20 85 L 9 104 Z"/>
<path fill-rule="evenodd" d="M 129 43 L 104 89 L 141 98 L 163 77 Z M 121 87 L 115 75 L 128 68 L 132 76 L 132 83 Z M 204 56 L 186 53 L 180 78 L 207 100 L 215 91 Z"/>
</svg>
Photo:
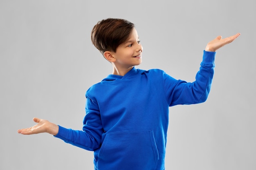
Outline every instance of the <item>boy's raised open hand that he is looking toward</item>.
<svg viewBox="0 0 256 170">
<path fill-rule="evenodd" d="M 234 41 L 240 35 L 241 35 L 240 33 L 237 33 L 236 35 L 233 35 L 224 39 L 222 39 L 222 36 L 218 36 L 217 38 L 215 38 L 214 40 L 210 41 L 207 44 L 205 51 L 215 52 L 218 49 L 220 49 L 222 46 L 225 46 L 226 44 L 229 44 L 230 42 Z"/>
</svg>

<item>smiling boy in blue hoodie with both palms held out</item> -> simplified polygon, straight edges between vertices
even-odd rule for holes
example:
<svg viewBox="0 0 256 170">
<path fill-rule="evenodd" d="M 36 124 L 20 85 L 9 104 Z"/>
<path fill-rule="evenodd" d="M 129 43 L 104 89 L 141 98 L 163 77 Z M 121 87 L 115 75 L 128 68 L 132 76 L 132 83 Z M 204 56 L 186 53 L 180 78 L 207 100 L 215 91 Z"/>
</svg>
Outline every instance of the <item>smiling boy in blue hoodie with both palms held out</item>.
<svg viewBox="0 0 256 170">
<path fill-rule="evenodd" d="M 176 80 L 164 71 L 135 69 L 143 48 L 134 24 L 123 19 L 101 20 L 91 39 L 113 72 L 86 92 L 83 130 L 66 129 L 44 119 L 24 135 L 48 132 L 74 146 L 94 151 L 95 170 L 164 170 L 168 107 L 207 99 L 216 50 L 235 40 L 218 36 L 204 51 L 195 82 Z"/>
</svg>

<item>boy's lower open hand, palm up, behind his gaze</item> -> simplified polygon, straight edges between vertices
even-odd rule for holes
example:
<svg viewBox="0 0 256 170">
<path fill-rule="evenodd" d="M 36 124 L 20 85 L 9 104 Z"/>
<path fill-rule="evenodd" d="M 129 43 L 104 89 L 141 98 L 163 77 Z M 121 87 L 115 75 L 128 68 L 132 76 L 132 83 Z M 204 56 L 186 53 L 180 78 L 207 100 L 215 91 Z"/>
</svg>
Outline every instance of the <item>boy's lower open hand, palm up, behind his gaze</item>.
<svg viewBox="0 0 256 170">
<path fill-rule="evenodd" d="M 18 133 L 23 135 L 32 135 L 32 134 L 38 134 L 38 133 L 44 133 L 47 132 L 52 135 L 57 135 L 58 133 L 58 125 L 53 124 L 45 119 L 39 119 L 34 117 L 33 121 L 38 123 L 35 126 L 32 126 L 30 128 L 25 129 L 19 129 Z"/>
</svg>

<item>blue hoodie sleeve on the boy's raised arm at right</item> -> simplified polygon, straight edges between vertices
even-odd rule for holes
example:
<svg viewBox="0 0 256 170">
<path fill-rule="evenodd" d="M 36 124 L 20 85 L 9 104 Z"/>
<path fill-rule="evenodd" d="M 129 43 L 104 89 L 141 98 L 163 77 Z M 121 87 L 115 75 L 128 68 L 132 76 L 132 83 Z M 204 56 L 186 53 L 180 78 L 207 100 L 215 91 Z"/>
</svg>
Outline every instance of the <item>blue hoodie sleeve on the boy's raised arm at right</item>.
<svg viewBox="0 0 256 170">
<path fill-rule="evenodd" d="M 214 74 L 216 52 L 204 51 L 200 69 L 194 82 L 177 80 L 163 72 L 163 86 L 169 106 L 177 104 L 198 104 L 205 102 Z"/>
</svg>

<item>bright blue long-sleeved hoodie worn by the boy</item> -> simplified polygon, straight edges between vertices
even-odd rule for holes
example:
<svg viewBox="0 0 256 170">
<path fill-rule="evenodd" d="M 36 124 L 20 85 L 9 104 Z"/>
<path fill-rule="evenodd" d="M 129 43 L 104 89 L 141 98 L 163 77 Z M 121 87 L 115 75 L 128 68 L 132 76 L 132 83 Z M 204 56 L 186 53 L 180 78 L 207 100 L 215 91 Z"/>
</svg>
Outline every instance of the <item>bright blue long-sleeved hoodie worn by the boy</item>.
<svg viewBox="0 0 256 170">
<path fill-rule="evenodd" d="M 59 126 L 55 137 L 94 151 L 95 170 L 164 170 L 168 107 L 206 101 L 215 52 L 204 51 L 195 82 L 133 67 L 86 92 L 83 130 Z"/>
</svg>

